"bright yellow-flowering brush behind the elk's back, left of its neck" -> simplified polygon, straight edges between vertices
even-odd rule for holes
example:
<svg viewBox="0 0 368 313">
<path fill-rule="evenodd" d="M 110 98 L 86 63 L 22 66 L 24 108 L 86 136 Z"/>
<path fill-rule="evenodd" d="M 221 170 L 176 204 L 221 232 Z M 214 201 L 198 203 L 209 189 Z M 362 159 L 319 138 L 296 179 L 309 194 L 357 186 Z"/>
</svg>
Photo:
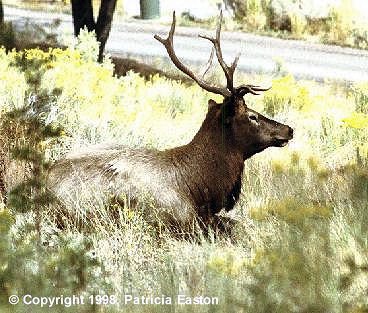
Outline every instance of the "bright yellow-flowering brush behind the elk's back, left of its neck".
<svg viewBox="0 0 368 313">
<path fill-rule="evenodd" d="M 206 111 L 208 94 L 197 86 L 183 88 L 180 82 L 159 76 L 146 81 L 135 73 L 118 78 L 110 59 L 99 64 L 75 48 L 1 53 L 3 110 L 15 101 L 23 105 L 29 96 L 27 72 L 38 70 L 41 89 L 59 90 L 52 100 L 55 119 L 79 144 L 105 138 L 123 143 L 129 137 L 136 144 L 178 145 L 190 140 Z M 22 58 L 27 70 L 15 65 L 14 60 Z M 177 136 L 172 138 L 174 127 Z"/>
</svg>

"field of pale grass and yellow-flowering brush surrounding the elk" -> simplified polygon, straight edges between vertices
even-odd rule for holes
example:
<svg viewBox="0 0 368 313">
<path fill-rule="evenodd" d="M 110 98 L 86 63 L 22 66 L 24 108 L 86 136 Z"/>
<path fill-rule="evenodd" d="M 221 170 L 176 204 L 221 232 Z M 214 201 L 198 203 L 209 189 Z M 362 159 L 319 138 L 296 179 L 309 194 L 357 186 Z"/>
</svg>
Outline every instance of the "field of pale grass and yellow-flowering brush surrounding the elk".
<svg viewBox="0 0 368 313">
<path fill-rule="evenodd" d="M 165 149 L 190 141 L 212 95 L 159 76 L 114 77 L 108 59 L 94 61 L 93 40 L 84 40 L 64 51 L 0 50 L 3 158 L 15 142 L 33 138 L 16 120 L 10 133 L 8 113 L 41 91 L 48 95 L 42 120 L 64 129 L 56 141 L 40 142 L 48 160 L 91 144 Z M 240 221 L 232 238 L 178 240 L 153 229 L 140 211 L 121 207 L 119 223 L 100 207 L 99 218 L 82 229 L 70 220 L 60 230 L 53 206 L 20 212 L 2 204 L 1 312 L 367 312 L 368 84 L 275 73 L 272 86 L 246 101 L 292 126 L 295 138 L 246 161 L 240 201 L 230 212 Z M 85 304 L 11 306 L 13 294 L 76 294 Z M 130 295 L 149 299 L 125 304 Z M 179 304 L 178 295 L 212 304 Z M 173 303 L 143 305 L 150 297 Z"/>
</svg>

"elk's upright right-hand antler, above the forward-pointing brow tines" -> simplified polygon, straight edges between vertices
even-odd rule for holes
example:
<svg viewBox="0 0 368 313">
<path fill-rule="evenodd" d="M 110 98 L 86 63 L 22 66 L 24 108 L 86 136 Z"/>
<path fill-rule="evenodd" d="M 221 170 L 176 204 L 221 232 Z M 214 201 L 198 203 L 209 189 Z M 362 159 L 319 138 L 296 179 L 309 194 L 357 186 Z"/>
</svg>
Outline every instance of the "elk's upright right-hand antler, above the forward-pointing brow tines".
<svg viewBox="0 0 368 313">
<path fill-rule="evenodd" d="M 231 66 L 228 66 L 225 63 L 224 58 L 222 56 L 222 50 L 221 50 L 221 44 L 220 44 L 221 23 L 222 23 L 222 10 L 220 11 L 220 17 L 219 17 L 219 21 L 218 21 L 218 24 L 217 24 L 216 38 L 212 38 L 212 37 L 208 37 L 208 36 L 204 36 L 204 35 L 199 35 L 199 37 L 211 41 L 212 44 L 214 45 L 217 60 L 220 63 L 220 66 L 221 66 L 221 68 L 224 71 L 225 76 L 226 76 L 227 89 L 232 93 L 234 91 L 234 72 L 235 72 L 236 66 L 238 65 L 240 53 L 235 57 L 235 60 L 233 61 Z"/>
</svg>

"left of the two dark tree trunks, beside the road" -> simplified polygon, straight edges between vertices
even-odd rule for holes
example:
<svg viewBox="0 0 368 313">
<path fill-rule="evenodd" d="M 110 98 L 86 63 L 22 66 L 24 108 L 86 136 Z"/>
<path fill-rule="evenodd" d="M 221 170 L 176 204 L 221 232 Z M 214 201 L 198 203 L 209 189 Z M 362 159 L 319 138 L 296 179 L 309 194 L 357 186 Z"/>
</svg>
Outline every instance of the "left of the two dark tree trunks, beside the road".
<svg viewBox="0 0 368 313">
<path fill-rule="evenodd" d="M 94 31 L 96 23 L 93 18 L 92 0 L 72 0 L 71 2 L 75 37 L 79 35 L 84 26 L 89 32 Z"/>
</svg>

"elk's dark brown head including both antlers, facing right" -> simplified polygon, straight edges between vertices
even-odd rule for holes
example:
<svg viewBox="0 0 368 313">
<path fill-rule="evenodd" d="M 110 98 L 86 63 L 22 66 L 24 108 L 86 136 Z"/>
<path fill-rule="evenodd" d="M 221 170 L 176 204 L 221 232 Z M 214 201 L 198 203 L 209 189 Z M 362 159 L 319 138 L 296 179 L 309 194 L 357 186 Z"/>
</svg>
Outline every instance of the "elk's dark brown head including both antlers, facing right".
<svg viewBox="0 0 368 313">
<path fill-rule="evenodd" d="M 244 158 L 248 158 L 255 153 L 261 152 L 267 147 L 283 147 L 293 138 L 293 129 L 287 125 L 280 124 L 274 120 L 268 119 L 262 114 L 247 107 L 244 96 L 248 93 L 259 95 L 259 92 L 267 91 L 270 88 L 261 88 L 254 85 L 240 85 L 234 87 L 234 72 L 239 61 L 238 54 L 232 64 L 228 66 L 222 56 L 220 33 L 221 33 L 222 12 L 216 30 L 216 37 L 200 35 L 199 37 L 209 40 L 213 44 L 208 67 L 212 63 L 213 52 L 215 51 L 217 60 L 226 77 L 226 87 L 220 87 L 204 80 L 196 75 L 186 65 L 184 65 L 176 56 L 173 46 L 173 37 L 175 32 L 175 11 L 173 12 L 173 21 L 169 35 L 166 39 L 155 35 L 154 38 L 161 42 L 174 65 L 183 73 L 192 78 L 200 87 L 208 92 L 220 94 L 224 97 L 222 103 L 218 104 L 213 100 L 208 102 L 208 113 L 201 129 L 210 129 L 212 133 L 215 129 L 220 129 L 223 142 L 231 147 L 242 151 Z M 203 132 L 202 132 L 203 133 Z M 198 132 L 196 136 L 200 135 Z"/>
</svg>

